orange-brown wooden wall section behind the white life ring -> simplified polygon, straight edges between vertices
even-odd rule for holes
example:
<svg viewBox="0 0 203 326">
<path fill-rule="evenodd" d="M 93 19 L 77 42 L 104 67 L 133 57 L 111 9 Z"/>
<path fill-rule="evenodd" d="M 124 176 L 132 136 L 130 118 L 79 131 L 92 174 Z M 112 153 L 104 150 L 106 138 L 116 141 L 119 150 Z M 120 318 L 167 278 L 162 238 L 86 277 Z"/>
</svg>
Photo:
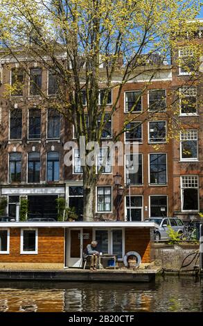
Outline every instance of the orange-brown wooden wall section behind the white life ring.
<svg viewBox="0 0 203 326">
<path fill-rule="evenodd" d="M 150 262 L 150 228 L 125 229 L 125 252 L 136 251 L 143 263 Z"/>
</svg>

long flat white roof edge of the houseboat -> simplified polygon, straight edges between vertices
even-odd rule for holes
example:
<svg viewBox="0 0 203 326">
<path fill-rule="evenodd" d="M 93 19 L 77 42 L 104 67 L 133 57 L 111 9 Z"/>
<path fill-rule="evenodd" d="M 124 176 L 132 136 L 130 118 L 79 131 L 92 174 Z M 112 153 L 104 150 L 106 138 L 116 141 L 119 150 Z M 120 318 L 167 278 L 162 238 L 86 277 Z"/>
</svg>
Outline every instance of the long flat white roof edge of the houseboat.
<svg viewBox="0 0 203 326">
<path fill-rule="evenodd" d="M 156 228 L 154 222 L 124 222 L 124 221 L 100 221 L 100 222 L 1 222 L 0 228 Z"/>
</svg>

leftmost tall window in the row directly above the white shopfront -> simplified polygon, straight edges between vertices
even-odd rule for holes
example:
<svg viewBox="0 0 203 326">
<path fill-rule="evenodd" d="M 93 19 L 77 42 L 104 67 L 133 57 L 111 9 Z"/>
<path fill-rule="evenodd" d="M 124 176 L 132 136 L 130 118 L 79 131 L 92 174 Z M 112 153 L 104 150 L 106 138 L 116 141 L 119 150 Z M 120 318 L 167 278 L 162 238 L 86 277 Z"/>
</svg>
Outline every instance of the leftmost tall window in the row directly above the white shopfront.
<svg viewBox="0 0 203 326">
<path fill-rule="evenodd" d="M 21 153 L 9 154 L 9 182 L 21 182 Z"/>
</svg>

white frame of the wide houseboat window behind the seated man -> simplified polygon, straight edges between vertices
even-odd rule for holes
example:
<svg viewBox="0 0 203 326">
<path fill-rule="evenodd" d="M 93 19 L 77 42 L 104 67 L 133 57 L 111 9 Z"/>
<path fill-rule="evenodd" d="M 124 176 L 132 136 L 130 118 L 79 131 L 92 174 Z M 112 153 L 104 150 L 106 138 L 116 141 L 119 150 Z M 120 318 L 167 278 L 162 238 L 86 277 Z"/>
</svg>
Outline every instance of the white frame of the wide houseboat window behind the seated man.
<svg viewBox="0 0 203 326">
<path fill-rule="evenodd" d="M 118 258 L 118 261 L 123 261 L 125 256 L 125 228 L 93 228 L 92 239 L 96 240 L 96 231 L 107 231 L 108 232 L 108 253 L 113 255 L 113 232 L 114 230 L 122 230 L 122 258 Z"/>
</svg>

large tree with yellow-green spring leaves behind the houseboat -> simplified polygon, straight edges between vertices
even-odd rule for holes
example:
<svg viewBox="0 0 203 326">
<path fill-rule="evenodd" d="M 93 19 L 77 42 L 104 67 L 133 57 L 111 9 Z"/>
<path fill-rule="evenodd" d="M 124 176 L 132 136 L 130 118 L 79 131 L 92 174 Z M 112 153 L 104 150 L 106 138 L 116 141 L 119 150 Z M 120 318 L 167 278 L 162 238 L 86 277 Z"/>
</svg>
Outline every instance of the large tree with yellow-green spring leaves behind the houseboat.
<svg viewBox="0 0 203 326">
<path fill-rule="evenodd" d="M 123 86 L 145 74 L 148 78 L 141 93 L 126 114 L 123 128 L 114 135 L 114 141 L 119 139 L 152 79 L 177 64 L 166 65 L 170 49 L 177 37 L 195 31 L 197 25 L 188 26 L 188 20 L 195 18 L 198 10 L 198 0 L 1 0 L 0 37 L 4 55 L 19 61 L 21 53 L 39 62 L 40 67 L 51 69 L 58 79 L 57 96 L 50 99 L 39 89 L 40 106 L 57 108 L 73 124 L 80 146 L 80 136 L 85 137 L 86 144 L 100 142 L 107 122 L 118 110 Z M 29 75 L 28 62 L 19 64 Z M 16 92 L 17 86 L 9 86 L 8 93 Z M 116 96 L 105 117 L 112 89 L 116 89 Z M 168 112 L 172 110 L 168 108 Z M 155 108 L 152 114 L 156 116 L 159 111 Z M 141 114 L 143 121 L 148 119 L 145 112 Z M 85 155 L 92 149 L 86 148 Z M 96 166 L 82 166 L 85 220 L 94 218 L 94 190 L 102 171 L 96 173 Z"/>
</svg>

